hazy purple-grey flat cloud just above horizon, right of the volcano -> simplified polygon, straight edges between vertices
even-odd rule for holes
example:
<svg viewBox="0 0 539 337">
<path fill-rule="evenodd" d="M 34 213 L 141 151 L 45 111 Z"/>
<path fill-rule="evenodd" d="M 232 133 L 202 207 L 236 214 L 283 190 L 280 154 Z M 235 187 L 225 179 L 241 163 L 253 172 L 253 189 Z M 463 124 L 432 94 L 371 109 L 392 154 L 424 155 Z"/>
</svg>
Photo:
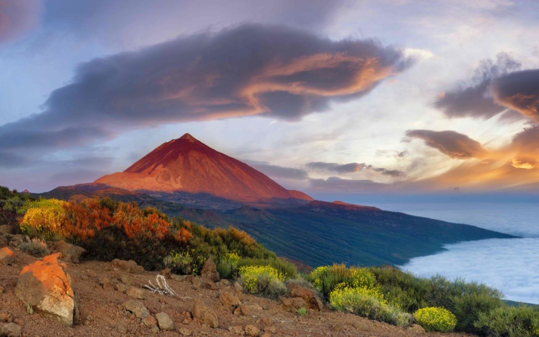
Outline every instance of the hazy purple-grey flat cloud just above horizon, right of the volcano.
<svg viewBox="0 0 539 337">
<path fill-rule="evenodd" d="M 385 190 L 389 185 L 377 183 L 372 180 L 343 179 L 339 177 L 329 177 L 327 179 L 309 179 L 310 189 L 319 192 L 379 192 Z"/>
</svg>

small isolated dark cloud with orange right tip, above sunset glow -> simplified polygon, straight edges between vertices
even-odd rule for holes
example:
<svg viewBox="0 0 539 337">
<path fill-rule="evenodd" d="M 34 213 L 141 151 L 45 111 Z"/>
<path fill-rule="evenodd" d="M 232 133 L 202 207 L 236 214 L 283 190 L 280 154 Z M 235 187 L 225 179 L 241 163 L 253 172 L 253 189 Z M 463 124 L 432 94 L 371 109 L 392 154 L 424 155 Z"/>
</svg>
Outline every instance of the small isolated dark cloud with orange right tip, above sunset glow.
<svg viewBox="0 0 539 337">
<path fill-rule="evenodd" d="M 435 148 L 452 158 L 480 158 L 488 154 L 487 150 L 478 141 L 451 130 L 408 130 L 406 136 L 422 139 L 427 146 Z"/>
</svg>

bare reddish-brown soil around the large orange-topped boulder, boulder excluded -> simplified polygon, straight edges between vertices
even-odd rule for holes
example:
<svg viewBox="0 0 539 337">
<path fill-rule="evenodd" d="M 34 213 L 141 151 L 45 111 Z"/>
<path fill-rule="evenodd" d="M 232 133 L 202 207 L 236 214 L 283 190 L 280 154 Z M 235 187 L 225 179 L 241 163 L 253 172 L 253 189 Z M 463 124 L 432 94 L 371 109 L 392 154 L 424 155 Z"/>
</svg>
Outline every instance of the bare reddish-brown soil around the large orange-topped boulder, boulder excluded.
<svg viewBox="0 0 539 337">
<path fill-rule="evenodd" d="M 324 308 L 321 312 L 308 311 L 305 317 L 288 311 L 280 301 L 253 295 L 240 295 L 242 304 L 260 306 L 248 315 L 234 315 L 219 301 L 224 291 L 234 292 L 226 281 L 212 283 L 201 277 L 169 276 L 167 282 L 183 299 L 152 293 L 142 287 L 149 280 L 155 283 L 156 272 L 129 273 L 119 270 L 109 262 L 86 261 L 80 264 L 66 263 L 73 288 L 79 297 L 80 323 L 66 327 L 41 314 L 29 314 L 15 295 L 18 275 L 23 266 L 37 258 L 11 247 L 16 253 L 16 263 L 0 265 L 0 315 L 8 314 L 10 320 L 22 326 L 23 336 L 236 336 L 245 327 L 253 325 L 265 336 L 462 336 L 462 334 L 417 333 L 377 321 L 344 314 Z M 172 279 L 174 278 L 174 279 Z M 159 331 L 150 328 L 129 313 L 122 304 L 133 300 L 125 292 L 126 287 L 142 290 L 141 301 L 151 314 L 165 312 L 174 321 L 174 330 Z M 117 290 L 120 288 L 120 290 Z M 212 289 L 210 289 L 212 288 Z M 236 292 L 237 293 L 237 292 Z M 139 292 L 140 297 L 140 292 Z M 191 319 L 194 301 L 201 300 L 217 314 L 219 325 L 212 328 Z M 4 315 L 6 317 L 6 315 Z M 232 328 L 231 328 L 232 327 Z M 230 331 L 232 330 L 232 331 Z"/>
</svg>

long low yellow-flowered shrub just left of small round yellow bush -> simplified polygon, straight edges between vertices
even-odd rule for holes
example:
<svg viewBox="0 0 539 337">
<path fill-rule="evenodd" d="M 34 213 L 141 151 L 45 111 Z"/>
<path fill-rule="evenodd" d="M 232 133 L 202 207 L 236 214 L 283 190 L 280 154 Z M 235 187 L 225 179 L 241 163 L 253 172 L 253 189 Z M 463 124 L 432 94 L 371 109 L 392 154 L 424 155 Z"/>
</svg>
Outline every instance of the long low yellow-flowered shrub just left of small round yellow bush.
<svg viewBox="0 0 539 337">
<path fill-rule="evenodd" d="M 388 305 L 381 294 L 367 288 L 337 286 L 329 295 L 331 307 L 342 312 L 398 326 L 408 326 L 411 315 Z"/>
</svg>

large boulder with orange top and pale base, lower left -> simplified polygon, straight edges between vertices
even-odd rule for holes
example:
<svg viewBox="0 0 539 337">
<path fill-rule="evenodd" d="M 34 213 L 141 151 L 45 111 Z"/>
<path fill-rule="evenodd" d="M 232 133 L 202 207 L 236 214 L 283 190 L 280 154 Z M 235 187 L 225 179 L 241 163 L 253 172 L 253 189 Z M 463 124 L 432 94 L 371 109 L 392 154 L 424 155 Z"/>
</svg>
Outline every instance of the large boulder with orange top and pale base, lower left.
<svg viewBox="0 0 539 337">
<path fill-rule="evenodd" d="M 72 326 L 79 320 L 77 297 L 67 266 L 59 263 L 60 253 L 27 265 L 19 274 L 15 294 L 34 311 Z"/>
</svg>

